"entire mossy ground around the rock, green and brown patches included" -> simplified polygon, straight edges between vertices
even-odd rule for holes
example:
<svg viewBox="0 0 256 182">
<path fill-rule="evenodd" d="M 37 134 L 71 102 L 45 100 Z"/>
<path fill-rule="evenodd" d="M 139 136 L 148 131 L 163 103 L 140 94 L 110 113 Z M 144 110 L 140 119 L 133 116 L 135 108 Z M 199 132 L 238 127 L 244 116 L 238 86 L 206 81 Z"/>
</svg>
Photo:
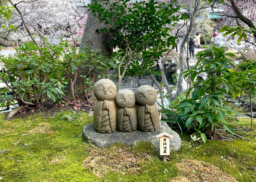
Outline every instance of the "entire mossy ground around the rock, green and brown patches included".
<svg viewBox="0 0 256 182">
<path fill-rule="evenodd" d="M 0 182 L 200 181 L 204 179 L 201 177 L 203 171 L 209 172 L 212 166 L 219 171 L 216 172 L 216 175 L 220 175 L 216 178 L 219 181 L 226 181 L 226 178 L 233 181 L 236 178 L 240 182 L 256 181 L 256 171 L 251 167 L 256 166 L 256 138 L 253 137 L 256 131 L 246 133 L 239 130 L 249 140 L 207 140 L 204 145 L 196 143 L 193 150 L 189 150 L 190 142 L 182 142 L 180 151 L 171 154 L 168 157 L 170 161 L 164 163 L 144 143 L 133 149 L 117 145 L 100 150 L 84 141 L 78 135 L 84 125 L 93 122 L 93 117 L 88 119 L 85 112 L 79 116 L 82 118 L 80 123 L 75 121 L 75 124 L 53 120 L 47 112 L 11 121 L 5 121 L 5 117 L 6 115 L 0 115 L 0 151 L 10 150 L 0 154 Z M 248 127 L 250 120 L 230 122 L 241 128 Z M 180 136 L 182 141 L 191 140 L 189 135 Z M 108 159 L 108 156 L 113 160 Z M 127 161 L 122 160 L 126 156 L 129 156 Z M 88 160 L 89 158 L 93 161 Z M 115 163 L 108 165 L 108 160 Z M 189 170 L 188 164 L 190 172 L 186 172 Z M 108 169 L 104 170 L 106 168 Z M 95 170 L 103 170 L 104 174 L 98 175 Z"/>
</svg>

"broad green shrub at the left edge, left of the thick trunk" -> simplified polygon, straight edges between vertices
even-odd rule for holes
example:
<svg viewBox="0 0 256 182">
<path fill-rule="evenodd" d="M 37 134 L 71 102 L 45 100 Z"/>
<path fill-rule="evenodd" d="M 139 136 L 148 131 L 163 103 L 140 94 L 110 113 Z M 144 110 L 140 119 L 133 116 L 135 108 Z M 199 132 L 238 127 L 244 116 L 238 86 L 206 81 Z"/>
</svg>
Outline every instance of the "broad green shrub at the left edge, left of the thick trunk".
<svg viewBox="0 0 256 182">
<path fill-rule="evenodd" d="M 0 72 L 7 87 L 19 98 L 19 103 L 35 105 L 49 98 L 59 103 L 64 95 L 63 66 L 58 60 L 64 47 L 34 43 L 15 48 L 15 57 L 1 56 L 6 72 Z"/>
</svg>

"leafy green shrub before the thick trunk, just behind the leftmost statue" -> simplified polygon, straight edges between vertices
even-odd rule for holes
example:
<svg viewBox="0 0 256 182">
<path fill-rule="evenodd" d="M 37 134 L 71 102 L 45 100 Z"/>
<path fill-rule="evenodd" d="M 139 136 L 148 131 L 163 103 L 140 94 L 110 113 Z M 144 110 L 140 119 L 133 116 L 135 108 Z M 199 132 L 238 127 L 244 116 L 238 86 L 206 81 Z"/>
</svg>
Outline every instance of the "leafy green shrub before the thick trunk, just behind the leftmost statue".
<svg viewBox="0 0 256 182">
<path fill-rule="evenodd" d="M 109 75 L 105 75 L 104 72 L 112 66 L 116 67 L 116 64 L 112 59 L 100 54 L 100 50 L 93 51 L 85 47 L 83 52 L 79 52 L 76 47 L 69 48 L 70 45 L 67 42 L 60 43 L 60 46 L 66 49 L 58 61 L 63 66 L 65 75 L 68 75 L 71 87 L 74 87 L 78 77 L 81 77 L 83 82 L 77 90 L 71 90 L 72 98 L 75 100 L 75 95 L 77 95 L 80 98 L 85 96 L 88 100 L 88 94 L 93 89 L 94 81 L 98 78 L 107 78 Z"/>
</svg>

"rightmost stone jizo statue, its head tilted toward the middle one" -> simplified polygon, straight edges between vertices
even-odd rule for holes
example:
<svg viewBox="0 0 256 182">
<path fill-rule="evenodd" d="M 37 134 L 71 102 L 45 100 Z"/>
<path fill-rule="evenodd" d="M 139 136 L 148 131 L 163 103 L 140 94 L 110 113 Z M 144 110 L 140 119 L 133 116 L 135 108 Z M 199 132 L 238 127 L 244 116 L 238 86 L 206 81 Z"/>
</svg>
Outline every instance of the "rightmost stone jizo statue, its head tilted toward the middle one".
<svg viewBox="0 0 256 182">
<path fill-rule="evenodd" d="M 135 91 L 138 129 L 143 132 L 154 132 L 159 128 L 159 113 L 157 105 L 157 91 L 149 85 L 143 85 Z"/>
</svg>

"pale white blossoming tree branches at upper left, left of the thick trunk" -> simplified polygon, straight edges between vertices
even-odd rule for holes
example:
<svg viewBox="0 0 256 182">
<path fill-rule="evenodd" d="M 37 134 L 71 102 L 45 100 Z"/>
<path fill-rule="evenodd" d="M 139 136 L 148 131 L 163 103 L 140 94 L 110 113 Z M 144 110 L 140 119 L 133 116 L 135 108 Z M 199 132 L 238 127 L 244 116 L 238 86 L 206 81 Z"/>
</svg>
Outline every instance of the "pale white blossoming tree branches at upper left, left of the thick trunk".
<svg viewBox="0 0 256 182">
<path fill-rule="evenodd" d="M 14 10 L 12 19 L 6 23 L 15 24 L 18 33 L 0 29 L 1 35 L 16 40 L 20 39 L 19 35 L 29 35 L 38 45 L 43 37 L 53 44 L 59 43 L 60 37 L 75 40 L 74 34 L 84 27 L 86 21 L 86 9 L 76 7 L 69 0 L 9 0 L 8 5 Z"/>
</svg>

